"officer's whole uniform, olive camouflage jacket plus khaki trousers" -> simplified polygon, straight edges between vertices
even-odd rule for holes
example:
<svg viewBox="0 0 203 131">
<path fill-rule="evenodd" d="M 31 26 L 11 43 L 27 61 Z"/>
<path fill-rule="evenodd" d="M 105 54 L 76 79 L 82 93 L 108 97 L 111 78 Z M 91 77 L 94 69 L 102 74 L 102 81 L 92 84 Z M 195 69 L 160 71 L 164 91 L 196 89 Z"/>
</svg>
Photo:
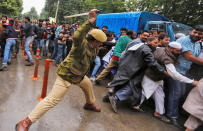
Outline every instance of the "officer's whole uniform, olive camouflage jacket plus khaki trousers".
<svg viewBox="0 0 203 131">
<path fill-rule="evenodd" d="M 85 76 L 90 63 L 94 61 L 98 53 L 98 49 L 93 48 L 85 38 L 91 28 L 92 24 L 85 22 L 75 32 L 72 49 L 57 70 L 58 76 L 52 91 L 28 115 L 32 122 L 37 121 L 49 109 L 57 105 L 72 84 L 81 87 L 85 94 L 86 103 L 93 104 L 95 102 L 92 83 Z"/>
</svg>

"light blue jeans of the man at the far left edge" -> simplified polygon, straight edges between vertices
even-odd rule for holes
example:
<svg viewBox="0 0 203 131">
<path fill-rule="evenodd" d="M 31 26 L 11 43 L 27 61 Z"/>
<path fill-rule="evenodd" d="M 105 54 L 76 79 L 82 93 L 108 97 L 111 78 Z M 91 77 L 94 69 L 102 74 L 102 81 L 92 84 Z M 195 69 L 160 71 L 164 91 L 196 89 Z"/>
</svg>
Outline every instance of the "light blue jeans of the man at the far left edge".
<svg viewBox="0 0 203 131">
<path fill-rule="evenodd" d="M 7 40 L 6 46 L 4 50 L 4 61 L 3 64 L 7 65 L 8 61 L 11 61 L 11 46 L 14 46 L 16 44 L 15 40 Z"/>
</svg>

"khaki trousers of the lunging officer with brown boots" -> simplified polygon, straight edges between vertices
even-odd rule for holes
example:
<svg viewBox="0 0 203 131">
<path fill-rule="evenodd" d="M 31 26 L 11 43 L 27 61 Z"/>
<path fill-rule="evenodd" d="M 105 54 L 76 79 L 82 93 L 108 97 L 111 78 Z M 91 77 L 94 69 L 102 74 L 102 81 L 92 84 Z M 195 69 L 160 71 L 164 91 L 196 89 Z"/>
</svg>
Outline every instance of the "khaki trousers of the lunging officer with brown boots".
<svg viewBox="0 0 203 131">
<path fill-rule="evenodd" d="M 43 114 L 56 106 L 67 93 L 69 87 L 72 84 L 66 80 L 63 80 L 60 76 L 57 76 L 55 84 L 46 98 L 40 101 L 37 106 L 28 115 L 28 118 L 32 123 L 37 121 Z M 86 103 L 93 104 L 95 102 L 95 96 L 93 93 L 93 86 L 90 79 L 84 76 L 83 80 L 77 84 L 84 92 Z"/>
</svg>

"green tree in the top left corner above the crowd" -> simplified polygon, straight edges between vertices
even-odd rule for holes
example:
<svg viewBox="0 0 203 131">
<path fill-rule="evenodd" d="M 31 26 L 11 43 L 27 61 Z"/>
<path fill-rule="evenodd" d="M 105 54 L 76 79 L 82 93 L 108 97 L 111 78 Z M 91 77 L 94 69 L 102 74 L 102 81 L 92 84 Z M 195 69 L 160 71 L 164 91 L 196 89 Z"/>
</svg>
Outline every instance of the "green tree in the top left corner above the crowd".
<svg viewBox="0 0 203 131">
<path fill-rule="evenodd" d="M 0 14 L 6 14 L 9 16 L 16 16 L 21 14 L 22 0 L 1 0 L 0 2 Z"/>
</svg>

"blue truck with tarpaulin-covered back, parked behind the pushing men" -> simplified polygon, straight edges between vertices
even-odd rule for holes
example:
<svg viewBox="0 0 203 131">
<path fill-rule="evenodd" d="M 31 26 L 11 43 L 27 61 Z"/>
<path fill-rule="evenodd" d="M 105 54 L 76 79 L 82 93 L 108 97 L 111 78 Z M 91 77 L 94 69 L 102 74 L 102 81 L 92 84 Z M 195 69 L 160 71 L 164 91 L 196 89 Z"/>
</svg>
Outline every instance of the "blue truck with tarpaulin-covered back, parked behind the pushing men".
<svg viewBox="0 0 203 131">
<path fill-rule="evenodd" d="M 189 35 L 192 30 L 190 26 L 172 22 L 160 14 L 146 11 L 100 14 L 97 17 L 96 25 L 100 28 L 107 25 L 108 30 L 113 31 L 115 35 L 120 34 L 122 27 L 134 30 L 136 33 L 140 30 L 161 30 L 170 36 L 171 41 L 175 40 L 177 33 Z"/>
</svg>

